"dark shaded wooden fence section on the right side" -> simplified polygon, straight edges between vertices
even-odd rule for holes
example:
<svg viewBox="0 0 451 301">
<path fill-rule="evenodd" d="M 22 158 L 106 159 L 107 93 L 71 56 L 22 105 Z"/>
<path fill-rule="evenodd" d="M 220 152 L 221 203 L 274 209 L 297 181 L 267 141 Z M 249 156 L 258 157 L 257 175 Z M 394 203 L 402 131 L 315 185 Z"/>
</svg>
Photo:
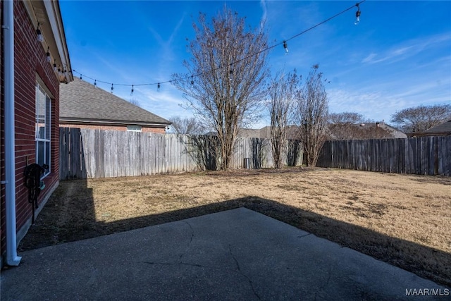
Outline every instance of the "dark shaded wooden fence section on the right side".
<svg viewBox="0 0 451 301">
<path fill-rule="evenodd" d="M 451 176 L 451 136 L 326 141 L 316 166 Z"/>
</svg>

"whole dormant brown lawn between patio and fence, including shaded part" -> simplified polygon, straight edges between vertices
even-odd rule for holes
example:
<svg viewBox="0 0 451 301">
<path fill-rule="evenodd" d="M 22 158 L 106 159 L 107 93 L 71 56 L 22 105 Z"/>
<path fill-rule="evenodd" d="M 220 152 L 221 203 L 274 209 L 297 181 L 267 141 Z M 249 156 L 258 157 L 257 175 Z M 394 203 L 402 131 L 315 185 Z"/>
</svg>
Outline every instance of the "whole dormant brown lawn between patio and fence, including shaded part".
<svg viewBox="0 0 451 301">
<path fill-rule="evenodd" d="M 63 181 L 20 250 L 247 207 L 451 285 L 451 178 L 316 168 Z"/>
</svg>

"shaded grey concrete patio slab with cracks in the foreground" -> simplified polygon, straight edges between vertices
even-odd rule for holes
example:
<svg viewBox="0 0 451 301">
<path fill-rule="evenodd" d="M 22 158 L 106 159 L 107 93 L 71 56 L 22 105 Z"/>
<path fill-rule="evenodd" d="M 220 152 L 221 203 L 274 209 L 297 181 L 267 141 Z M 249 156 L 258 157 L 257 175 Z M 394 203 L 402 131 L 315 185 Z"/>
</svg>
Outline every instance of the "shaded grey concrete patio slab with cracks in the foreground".
<svg viewBox="0 0 451 301">
<path fill-rule="evenodd" d="M 428 300 L 450 296 L 449 288 L 245 208 L 20 256 L 1 273 L 1 300 L 425 300 L 407 295 L 424 289 Z"/>
</svg>

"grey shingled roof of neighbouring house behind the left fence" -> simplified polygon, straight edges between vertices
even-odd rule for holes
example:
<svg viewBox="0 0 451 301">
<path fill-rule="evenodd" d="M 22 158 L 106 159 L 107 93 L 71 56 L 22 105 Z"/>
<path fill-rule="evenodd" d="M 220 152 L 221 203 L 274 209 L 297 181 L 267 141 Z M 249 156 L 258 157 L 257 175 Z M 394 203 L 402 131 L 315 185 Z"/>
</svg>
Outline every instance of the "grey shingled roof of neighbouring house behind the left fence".
<svg viewBox="0 0 451 301">
<path fill-rule="evenodd" d="M 60 85 L 59 120 L 60 123 L 77 124 L 171 125 L 171 121 L 79 78 Z"/>
</svg>

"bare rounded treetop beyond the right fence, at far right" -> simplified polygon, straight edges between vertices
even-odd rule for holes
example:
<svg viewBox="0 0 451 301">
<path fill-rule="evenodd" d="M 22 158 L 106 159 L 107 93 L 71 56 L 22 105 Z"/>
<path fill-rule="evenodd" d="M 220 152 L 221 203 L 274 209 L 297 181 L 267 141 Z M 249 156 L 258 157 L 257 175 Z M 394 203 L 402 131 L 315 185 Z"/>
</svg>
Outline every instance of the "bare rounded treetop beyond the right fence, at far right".
<svg viewBox="0 0 451 301">
<path fill-rule="evenodd" d="M 415 106 L 396 111 L 391 121 L 406 133 L 424 132 L 451 119 L 451 104 Z"/>
</svg>

